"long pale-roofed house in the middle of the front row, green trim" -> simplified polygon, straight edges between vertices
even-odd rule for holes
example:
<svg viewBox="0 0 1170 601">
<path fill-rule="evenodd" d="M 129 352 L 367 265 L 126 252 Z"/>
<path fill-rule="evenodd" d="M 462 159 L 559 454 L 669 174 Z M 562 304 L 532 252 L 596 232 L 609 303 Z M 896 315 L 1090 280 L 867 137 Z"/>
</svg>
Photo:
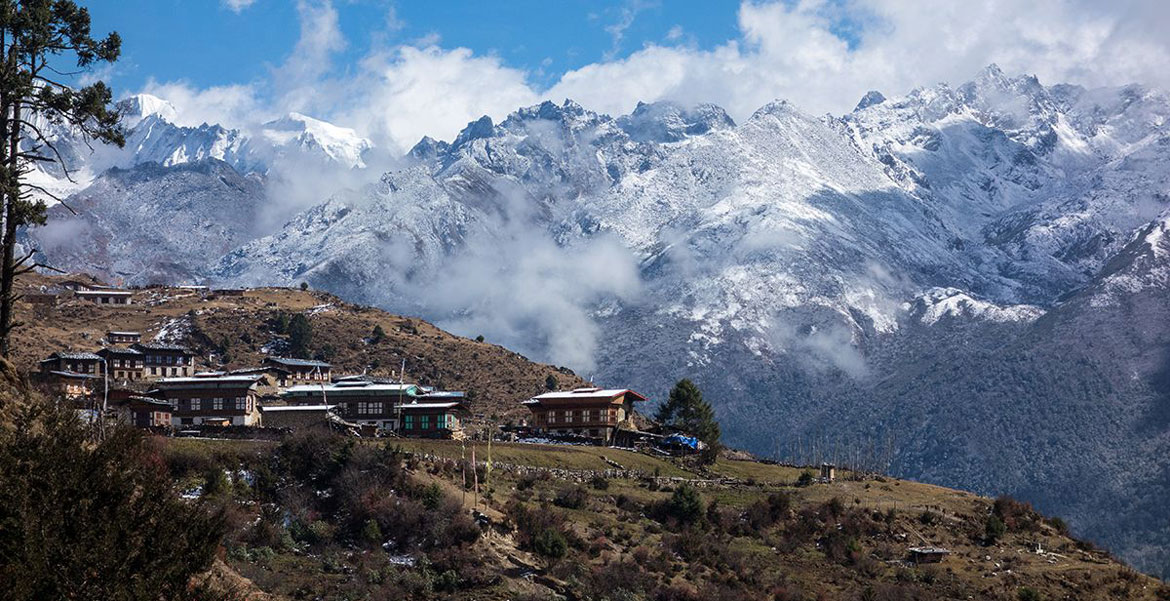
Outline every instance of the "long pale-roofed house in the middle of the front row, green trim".
<svg viewBox="0 0 1170 601">
<path fill-rule="evenodd" d="M 294 386 L 281 395 L 288 405 L 336 405 L 342 419 L 384 431 L 398 430 L 397 407 L 419 396 L 412 384 L 346 381 Z"/>
</svg>

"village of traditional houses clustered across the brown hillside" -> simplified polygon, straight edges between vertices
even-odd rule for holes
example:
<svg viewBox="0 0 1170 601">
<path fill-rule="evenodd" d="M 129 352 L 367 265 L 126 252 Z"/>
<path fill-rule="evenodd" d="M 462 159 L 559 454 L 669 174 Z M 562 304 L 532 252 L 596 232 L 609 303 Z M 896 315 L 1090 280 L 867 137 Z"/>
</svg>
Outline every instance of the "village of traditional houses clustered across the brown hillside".
<svg viewBox="0 0 1170 601">
<path fill-rule="evenodd" d="M 262 295 L 206 286 L 177 286 L 163 296 L 157 293 L 136 293 L 74 277 L 41 283 L 26 299 L 44 316 L 62 306 L 97 305 L 112 311 L 110 320 L 122 326 L 118 311 L 130 311 L 136 304 L 158 306 L 176 296 L 201 304 Z M 298 327 L 309 327 L 302 316 L 292 317 L 292 322 L 297 319 L 302 319 Z M 278 320 L 288 318 L 281 313 Z M 385 336 L 381 326 L 371 332 L 372 338 Z M 275 353 L 264 354 L 255 365 L 233 366 L 222 352 L 219 357 L 214 352 L 202 357 L 173 338 L 166 327 L 151 339 L 144 339 L 142 331 L 109 329 L 88 348 L 58 348 L 40 359 L 34 379 L 50 398 L 70 403 L 90 419 L 104 415 L 106 420 L 167 434 L 254 437 L 325 427 L 365 437 L 468 435 L 464 423 L 473 415 L 468 393 L 408 381 L 406 358 L 391 377 L 373 375 L 369 369 L 344 373 L 321 358 Z M 336 337 L 331 340 L 346 343 Z M 303 355 L 309 350 L 298 351 Z M 634 391 L 596 386 L 558 389 L 552 375 L 546 377 L 544 388 L 539 394 L 512 399 L 516 408 L 525 410 L 511 412 L 505 421 L 488 427 L 481 420 L 476 434 L 626 447 L 652 444 L 675 451 L 698 450 L 701 445 L 686 436 L 640 429 L 638 423 L 645 424 L 645 420 L 635 419 L 635 403 L 647 398 Z"/>
</svg>

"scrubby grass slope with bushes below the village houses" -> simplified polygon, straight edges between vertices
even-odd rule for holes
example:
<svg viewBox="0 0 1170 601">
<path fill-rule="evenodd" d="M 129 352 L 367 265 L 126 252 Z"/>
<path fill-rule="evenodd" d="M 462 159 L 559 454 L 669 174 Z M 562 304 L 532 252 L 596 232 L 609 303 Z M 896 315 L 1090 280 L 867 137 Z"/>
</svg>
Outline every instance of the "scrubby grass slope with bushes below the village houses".
<svg viewBox="0 0 1170 601">
<path fill-rule="evenodd" d="M 227 564 L 277 599 L 1170 599 L 1170 588 L 1010 499 L 852 475 L 799 486 L 801 470 L 782 465 L 697 469 L 615 449 L 508 443 L 493 445 L 490 474 L 487 447 L 476 447 L 476 497 L 460 462 L 469 447 L 380 444 L 170 440 L 166 455 L 188 486 L 208 464 L 261 482 L 278 469 L 270 465 L 317 474 L 268 492 L 215 486 L 241 525 L 226 541 Z M 298 458 L 339 455 L 342 464 Z M 614 464 L 647 475 L 603 477 Z M 374 475 L 387 465 L 397 465 L 393 490 Z M 697 492 L 689 512 L 676 507 L 680 489 Z M 473 510 L 484 525 L 468 536 L 459 520 Z M 277 512 L 288 526 L 266 524 Z M 1004 525 L 994 540 L 991 520 Z M 906 561 L 920 545 L 952 553 L 936 565 Z"/>
</svg>

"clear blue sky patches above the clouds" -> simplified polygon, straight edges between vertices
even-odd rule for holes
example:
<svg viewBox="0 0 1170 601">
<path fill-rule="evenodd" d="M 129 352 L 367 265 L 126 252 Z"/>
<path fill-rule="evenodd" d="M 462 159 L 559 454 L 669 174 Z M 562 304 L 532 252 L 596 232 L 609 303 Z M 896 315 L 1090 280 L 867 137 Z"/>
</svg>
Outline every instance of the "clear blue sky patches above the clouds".
<svg viewBox="0 0 1170 601">
<path fill-rule="evenodd" d="M 91 2 L 97 32 L 116 29 L 123 58 L 111 77 L 119 90 L 150 78 L 198 87 L 266 77 L 300 35 L 291 0 L 255 0 L 239 12 L 214 0 L 105 0 Z M 496 55 L 548 85 L 560 74 L 628 55 L 646 41 L 711 47 L 737 35 L 738 2 L 584 0 L 338 2 L 346 69 L 380 43 L 436 41 Z M 615 37 L 617 28 L 628 23 Z"/>
</svg>

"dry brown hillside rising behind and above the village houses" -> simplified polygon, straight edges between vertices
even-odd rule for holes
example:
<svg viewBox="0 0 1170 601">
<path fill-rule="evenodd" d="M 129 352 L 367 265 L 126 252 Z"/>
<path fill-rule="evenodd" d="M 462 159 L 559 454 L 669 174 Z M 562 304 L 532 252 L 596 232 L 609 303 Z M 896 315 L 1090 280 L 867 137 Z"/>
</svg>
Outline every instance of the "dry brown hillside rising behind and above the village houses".
<svg viewBox="0 0 1170 601">
<path fill-rule="evenodd" d="M 22 291 L 61 282 L 30 275 Z M 519 401 L 545 389 L 546 380 L 573 387 L 584 380 L 569 369 L 529 361 L 502 346 L 445 332 L 421 319 L 344 303 L 323 292 L 256 289 L 247 296 L 201 298 L 179 289 L 149 288 L 130 306 L 102 306 L 69 300 L 55 308 L 18 304 L 25 325 L 15 333 L 13 361 L 35 369 L 56 350 L 94 350 L 108 330 L 163 336 L 190 346 L 201 366 L 236 368 L 257 365 L 267 353 L 287 352 L 287 337 L 274 327 L 276 316 L 304 313 L 312 325 L 311 354 L 325 358 L 335 374 L 398 377 L 406 361 L 406 381 L 467 391 L 473 410 L 486 419 L 526 414 Z M 374 327 L 385 332 L 374 340 Z M 209 359 L 214 355 L 214 359 Z"/>
</svg>

